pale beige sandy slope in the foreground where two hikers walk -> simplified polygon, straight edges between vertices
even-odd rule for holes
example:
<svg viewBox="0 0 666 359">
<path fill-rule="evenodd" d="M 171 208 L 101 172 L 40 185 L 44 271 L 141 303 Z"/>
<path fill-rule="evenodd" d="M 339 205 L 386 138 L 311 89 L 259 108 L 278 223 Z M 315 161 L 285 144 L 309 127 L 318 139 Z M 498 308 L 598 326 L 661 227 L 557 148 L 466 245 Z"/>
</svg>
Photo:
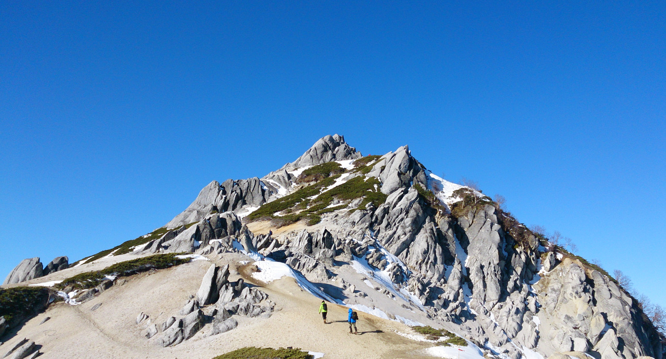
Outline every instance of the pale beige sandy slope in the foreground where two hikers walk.
<svg viewBox="0 0 666 359">
<path fill-rule="evenodd" d="M 230 280 L 240 277 L 238 262 L 250 260 L 242 254 L 232 253 L 210 259 L 218 265 L 230 264 Z M 277 311 L 268 319 L 235 316 L 238 328 L 216 336 L 206 336 L 209 328 L 204 328 L 192 339 L 172 348 L 162 348 L 155 344 L 157 336 L 147 340 L 144 325 L 135 324 L 137 314 L 145 312 L 158 325 L 168 316 L 176 314 L 190 294 L 196 293 L 210 263 L 196 260 L 153 274 L 124 278 L 127 280 L 124 284 L 121 284 L 121 279 L 117 285 L 79 306 L 54 304 L 46 312 L 29 320 L 17 334 L 9 334 L 9 338 L 5 336 L 7 342 L 0 345 L 0 352 L 7 352 L 15 342 L 29 338 L 42 346 L 41 352 L 44 354 L 40 358 L 44 359 L 208 359 L 244 346 L 292 346 L 323 354 L 324 359 L 432 358 L 424 352 L 432 344 L 396 334 L 396 331 L 410 331 L 408 326 L 399 322 L 360 312 L 358 330 L 361 335 L 350 335 L 346 324 L 348 308 L 330 304 L 328 318 L 332 322 L 323 324 L 318 314 L 320 299 L 300 288 L 294 278 L 282 275 L 279 276 L 282 279 L 274 278 L 268 284 L 245 277 L 248 283 L 263 286 L 262 290 L 270 296 L 270 300 L 276 302 Z M 103 268 L 103 264 L 93 263 L 91 266 Z M 79 268 L 73 270 L 79 272 Z M 240 272 L 243 272 L 242 267 Z M 40 279 L 39 283 L 60 280 Z M 102 305 L 91 311 L 96 304 Z M 47 316 L 51 320 L 40 325 Z"/>
</svg>

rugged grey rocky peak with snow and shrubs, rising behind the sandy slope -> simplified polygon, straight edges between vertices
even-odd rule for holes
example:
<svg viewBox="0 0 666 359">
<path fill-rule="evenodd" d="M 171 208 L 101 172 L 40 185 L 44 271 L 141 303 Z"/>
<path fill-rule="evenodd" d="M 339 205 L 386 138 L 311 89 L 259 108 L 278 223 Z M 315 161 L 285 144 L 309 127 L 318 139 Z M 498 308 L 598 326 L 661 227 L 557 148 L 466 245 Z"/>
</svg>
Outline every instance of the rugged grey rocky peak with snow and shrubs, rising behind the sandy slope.
<svg viewBox="0 0 666 359">
<path fill-rule="evenodd" d="M 165 228 L 126 243 L 84 266 L 132 251 L 123 256 L 246 258 L 258 271 L 248 280 L 278 268 L 310 298 L 445 328 L 486 357 L 663 356 L 663 336 L 601 268 L 433 175 L 407 146 L 362 157 L 344 137 L 323 137 L 262 178 L 211 182 Z M 405 345 L 411 356 L 443 350 Z"/>
</svg>

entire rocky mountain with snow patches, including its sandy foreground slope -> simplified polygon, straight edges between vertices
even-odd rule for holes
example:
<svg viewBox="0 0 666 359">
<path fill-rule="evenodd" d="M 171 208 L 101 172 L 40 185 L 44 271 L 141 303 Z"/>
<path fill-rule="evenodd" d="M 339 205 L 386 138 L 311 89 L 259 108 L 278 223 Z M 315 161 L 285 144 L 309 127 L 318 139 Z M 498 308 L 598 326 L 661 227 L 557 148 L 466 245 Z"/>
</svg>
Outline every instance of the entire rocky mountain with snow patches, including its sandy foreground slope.
<svg viewBox="0 0 666 359">
<path fill-rule="evenodd" d="M 364 156 L 341 135 L 263 177 L 214 180 L 163 228 L 115 248 L 73 264 L 23 260 L 2 288 L 0 354 L 11 358 L 289 346 L 316 358 L 661 359 L 666 349 L 603 268 L 434 175 L 408 146 Z M 348 308 L 361 336 L 348 334 Z"/>
</svg>

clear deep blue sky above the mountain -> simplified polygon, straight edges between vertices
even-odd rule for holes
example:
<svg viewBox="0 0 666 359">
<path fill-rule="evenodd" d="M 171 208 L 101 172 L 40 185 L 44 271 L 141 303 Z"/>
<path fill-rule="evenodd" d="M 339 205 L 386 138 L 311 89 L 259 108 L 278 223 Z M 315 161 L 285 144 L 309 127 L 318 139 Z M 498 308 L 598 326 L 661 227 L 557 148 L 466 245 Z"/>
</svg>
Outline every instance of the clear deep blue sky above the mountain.
<svg viewBox="0 0 666 359">
<path fill-rule="evenodd" d="M 135 3 L 0 3 L 3 278 L 340 133 L 410 145 L 666 304 L 663 1 Z"/>
</svg>

